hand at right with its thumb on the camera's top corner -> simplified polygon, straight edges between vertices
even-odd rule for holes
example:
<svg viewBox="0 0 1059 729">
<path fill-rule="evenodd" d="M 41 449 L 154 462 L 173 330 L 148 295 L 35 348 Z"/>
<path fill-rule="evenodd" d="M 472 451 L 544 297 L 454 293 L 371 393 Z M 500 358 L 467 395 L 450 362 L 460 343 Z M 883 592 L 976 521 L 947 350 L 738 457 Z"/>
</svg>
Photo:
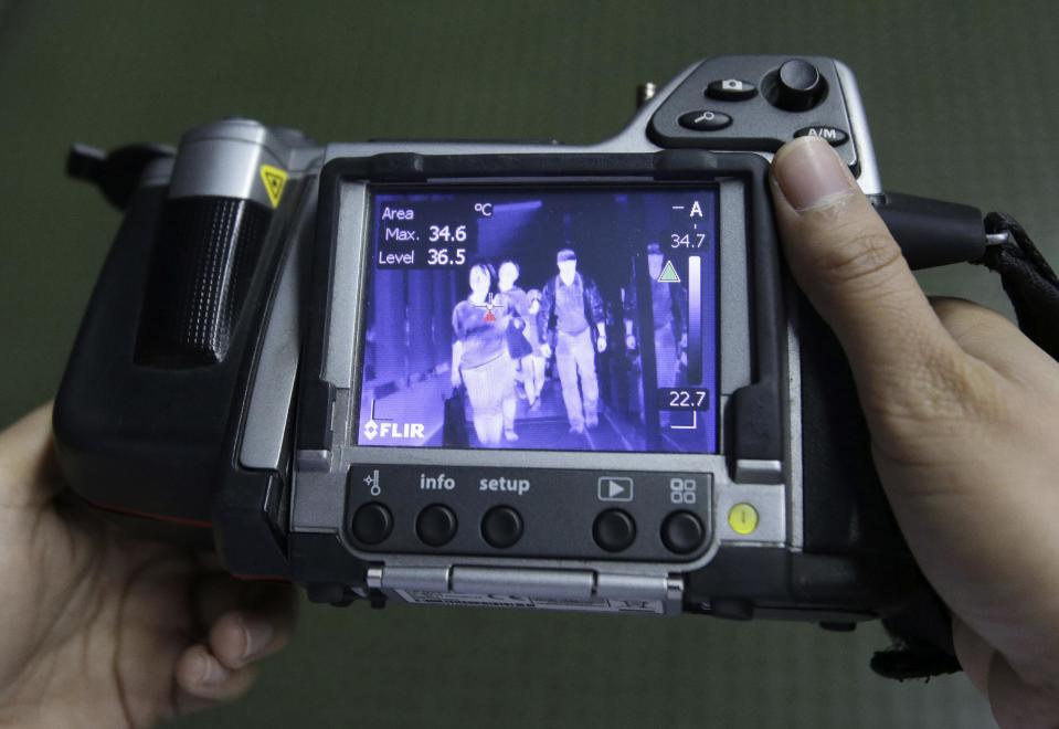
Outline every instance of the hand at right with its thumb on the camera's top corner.
<svg viewBox="0 0 1059 729">
<path fill-rule="evenodd" d="M 830 147 L 781 149 L 795 279 L 849 359 L 901 531 L 1007 729 L 1059 726 L 1059 364 L 1000 315 L 929 302 Z"/>
</svg>

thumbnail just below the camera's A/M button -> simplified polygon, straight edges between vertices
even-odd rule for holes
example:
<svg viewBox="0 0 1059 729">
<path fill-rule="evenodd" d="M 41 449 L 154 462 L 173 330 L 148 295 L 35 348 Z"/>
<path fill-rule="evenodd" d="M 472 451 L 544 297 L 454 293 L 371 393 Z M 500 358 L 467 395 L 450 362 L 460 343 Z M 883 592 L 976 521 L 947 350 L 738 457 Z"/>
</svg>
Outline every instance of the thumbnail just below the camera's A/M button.
<svg viewBox="0 0 1059 729">
<path fill-rule="evenodd" d="M 773 175 L 787 202 L 798 211 L 823 208 L 853 191 L 856 182 L 832 146 L 798 137 L 772 160 Z"/>
</svg>

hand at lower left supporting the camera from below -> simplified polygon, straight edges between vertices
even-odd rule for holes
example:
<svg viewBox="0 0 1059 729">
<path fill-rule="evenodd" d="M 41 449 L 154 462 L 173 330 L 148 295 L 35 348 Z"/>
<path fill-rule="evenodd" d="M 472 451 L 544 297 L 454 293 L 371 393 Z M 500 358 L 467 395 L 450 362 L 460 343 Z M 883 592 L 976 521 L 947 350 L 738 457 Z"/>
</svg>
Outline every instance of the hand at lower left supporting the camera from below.
<svg viewBox="0 0 1059 729">
<path fill-rule="evenodd" d="M 51 406 L 0 432 L 0 726 L 148 727 L 242 696 L 290 585 L 134 538 L 70 498 Z"/>
</svg>

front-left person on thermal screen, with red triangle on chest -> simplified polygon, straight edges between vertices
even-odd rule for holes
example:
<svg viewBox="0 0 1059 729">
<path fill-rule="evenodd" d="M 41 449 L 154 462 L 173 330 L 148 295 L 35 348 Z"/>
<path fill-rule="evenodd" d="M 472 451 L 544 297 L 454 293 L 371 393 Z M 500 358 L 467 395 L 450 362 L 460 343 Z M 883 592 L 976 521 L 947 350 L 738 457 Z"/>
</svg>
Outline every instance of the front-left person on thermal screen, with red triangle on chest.
<svg viewBox="0 0 1059 729">
<path fill-rule="evenodd" d="M 470 401 L 478 442 L 500 445 L 501 436 L 513 441 L 515 362 L 508 356 L 506 332 L 511 310 L 494 290 L 493 266 L 470 267 L 470 294 L 453 309 L 452 383 L 463 382 Z"/>
</svg>

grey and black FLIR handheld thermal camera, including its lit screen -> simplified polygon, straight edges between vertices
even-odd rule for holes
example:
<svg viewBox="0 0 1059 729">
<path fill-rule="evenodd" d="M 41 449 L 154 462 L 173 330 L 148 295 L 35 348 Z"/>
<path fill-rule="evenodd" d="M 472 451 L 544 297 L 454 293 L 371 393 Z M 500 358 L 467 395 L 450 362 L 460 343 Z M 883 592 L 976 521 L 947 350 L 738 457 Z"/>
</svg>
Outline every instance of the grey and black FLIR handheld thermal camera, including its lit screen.
<svg viewBox="0 0 1059 729">
<path fill-rule="evenodd" d="M 56 403 L 63 469 L 317 601 L 899 611 L 922 580 L 777 251 L 769 160 L 806 134 L 922 233 L 825 57 L 697 63 L 590 147 L 230 119 L 75 150 L 126 214 Z"/>
</svg>

